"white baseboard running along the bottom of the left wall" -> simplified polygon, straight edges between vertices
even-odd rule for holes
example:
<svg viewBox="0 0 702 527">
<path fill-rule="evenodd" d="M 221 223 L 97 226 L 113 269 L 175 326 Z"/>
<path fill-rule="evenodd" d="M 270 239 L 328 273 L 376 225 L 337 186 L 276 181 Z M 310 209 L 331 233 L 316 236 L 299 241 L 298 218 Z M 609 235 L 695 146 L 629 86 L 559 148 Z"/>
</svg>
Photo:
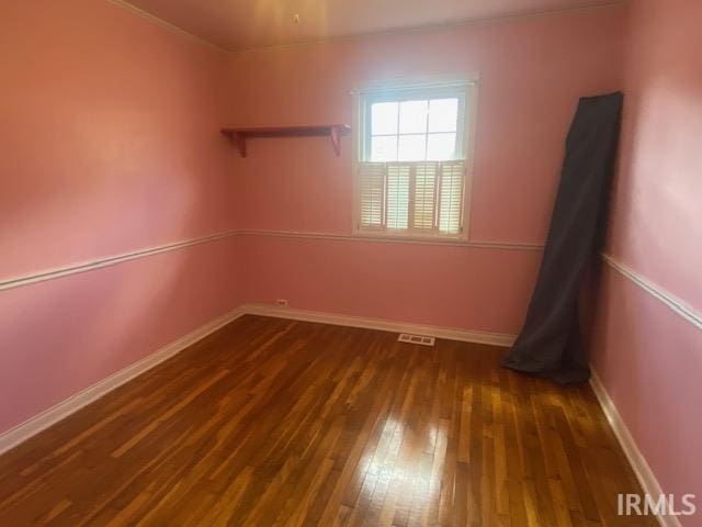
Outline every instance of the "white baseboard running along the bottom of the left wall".
<svg viewBox="0 0 702 527">
<path fill-rule="evenodd" d="M 52 406 L 31 419 L 9 429 L 4 434 L 0 434 L 0 453 L 10 450 L 32 436 L 35 436 L 39 431 L 68 417 L 70 414 L 79 411 L 83 406 L 87 406 L 93 401 L 102 397 L 107 392 L 111 392 L 115 388 L 118 388 L 135 377 L 140 375 L 145 371 L 150 370 L 155 366 L 171 358 L 189 346 L 192 346 L 197 340 L 202 340 L 207 335 L 216 332 L 223 326 L 226 326 L 242 314 L 244 313 L 240 309 L 230 311 L 229 313 L 208 322 L 178 340 L 163 346 L 141 360 L 127 366 L 123 370 L 120 370 L 102 381 L 81 390 L 57 405 Z"/>
</svg>

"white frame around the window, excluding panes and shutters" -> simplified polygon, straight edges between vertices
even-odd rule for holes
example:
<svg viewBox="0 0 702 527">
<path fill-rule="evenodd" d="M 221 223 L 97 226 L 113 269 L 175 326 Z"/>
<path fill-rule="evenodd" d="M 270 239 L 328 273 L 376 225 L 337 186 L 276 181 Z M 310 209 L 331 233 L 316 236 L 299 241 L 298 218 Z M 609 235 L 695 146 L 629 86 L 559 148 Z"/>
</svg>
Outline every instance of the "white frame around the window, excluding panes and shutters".
<svg viewBox="0 0 702 527">
<path fill-rule="evenodd" d="M 467 242 L 471 226 L 471 198 L 473 190 L 473 168 L 475 150 L 476 110 L 478 99 L 478 74 L 458 76 L 432 76 L 414 79 L 395 79 L 356 85 L 351 92 L 354 99 L 353 130 L 353 224 L 352 234 L 364 237 L 399 239 L 440 239 L 446 242 Z M 442 97 L 458 98 L 458 123 L 456 126 L 455 160 L 465 162 L 462 225 L 460 233 L 419 233 L 414 229 L 395 231 L 389 228 L 361 227 L 361 195 L 359 189 L 359 169 L 362 162 L 369 162 L 371 142 L 371 106 L 383 101 L 403 101 L 416 99 L 435 99 Z M 397 161 L 403 162 L 403 161 Z M 408 161 L 412 162 L 412 161 Z M 435 161 L 428 161 L 435 162 Z"/>
</svg>

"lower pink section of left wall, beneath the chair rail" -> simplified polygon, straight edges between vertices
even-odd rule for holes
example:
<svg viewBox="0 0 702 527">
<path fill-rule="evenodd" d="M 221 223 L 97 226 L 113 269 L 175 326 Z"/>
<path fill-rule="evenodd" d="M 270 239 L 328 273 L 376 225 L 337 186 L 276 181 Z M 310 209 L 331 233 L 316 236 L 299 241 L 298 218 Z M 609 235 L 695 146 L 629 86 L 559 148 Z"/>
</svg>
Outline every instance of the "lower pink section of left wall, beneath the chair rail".
<svg viewBox="0 0 702 527">
<path fill-rule="evenodd" d="M 0 433 L 238 304 L 231 239 L 0 292 Z"/>
</svg>

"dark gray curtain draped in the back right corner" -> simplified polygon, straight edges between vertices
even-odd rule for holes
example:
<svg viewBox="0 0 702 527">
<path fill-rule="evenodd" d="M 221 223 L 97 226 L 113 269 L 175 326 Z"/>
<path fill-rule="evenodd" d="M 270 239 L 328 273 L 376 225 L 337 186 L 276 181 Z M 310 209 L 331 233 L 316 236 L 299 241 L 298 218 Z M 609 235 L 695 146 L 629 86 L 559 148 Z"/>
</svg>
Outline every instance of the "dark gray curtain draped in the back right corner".
<svg viewBox="0 0 702 527">
<path fill-rule="evenodd" d="M 502 359 L 513 370 L 561 383 L 590 377 L 580 338 L 578 291 L 602 239 L 622 93 L 580 99 L 566 138 L 561 184 L 524 326 Z"/>
</svg>

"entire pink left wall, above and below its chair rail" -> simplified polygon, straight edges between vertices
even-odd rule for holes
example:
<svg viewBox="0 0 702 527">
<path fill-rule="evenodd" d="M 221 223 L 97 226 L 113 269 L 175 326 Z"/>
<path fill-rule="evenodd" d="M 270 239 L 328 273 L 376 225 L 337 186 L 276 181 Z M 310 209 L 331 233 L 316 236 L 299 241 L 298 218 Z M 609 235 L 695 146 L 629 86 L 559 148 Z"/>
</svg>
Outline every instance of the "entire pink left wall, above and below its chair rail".
<svg viewBox="0 0 702 527">
<path fill-rule="evenodd" d="M 235 226 L 223 54 L 106 1 L 0 21 L 0 282 Z M 236 306 L 234 250 L 0 291 L 0 433 Z"/>
</svg>

